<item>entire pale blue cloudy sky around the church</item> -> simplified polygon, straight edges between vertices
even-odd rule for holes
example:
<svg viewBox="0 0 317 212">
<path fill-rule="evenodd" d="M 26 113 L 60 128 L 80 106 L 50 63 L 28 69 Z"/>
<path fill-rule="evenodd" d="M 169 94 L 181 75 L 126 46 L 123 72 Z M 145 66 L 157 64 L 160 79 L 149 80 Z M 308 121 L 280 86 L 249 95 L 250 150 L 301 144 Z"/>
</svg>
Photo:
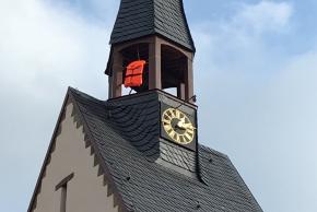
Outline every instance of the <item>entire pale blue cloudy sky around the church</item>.
<svg viewBox="0 0 317 212">
<path fill-rule="evenodd" d="M 268 212 L 317 211 L 317 1 L 184 0 L 199 140 Z M 107 98 L 119 0 L 0 0 L 0 211 L 26 211 L 68 86 Z"/>
</svg>

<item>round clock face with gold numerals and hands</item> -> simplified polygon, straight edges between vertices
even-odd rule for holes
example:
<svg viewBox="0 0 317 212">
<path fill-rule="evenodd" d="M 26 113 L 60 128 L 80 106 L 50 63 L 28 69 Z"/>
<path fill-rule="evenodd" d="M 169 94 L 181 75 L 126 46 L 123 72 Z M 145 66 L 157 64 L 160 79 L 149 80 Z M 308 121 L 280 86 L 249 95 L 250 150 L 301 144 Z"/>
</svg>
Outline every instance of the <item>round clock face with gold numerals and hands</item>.
<svg viewBox="0 0 317 212">
<path fill-rule="evenodd" d="M 196 128 L 190 119 L 180 110 L 168 108 L 162 114 L 162 125 L 168 137 L 179 144 L 193 141 Z"/>
</svg>

